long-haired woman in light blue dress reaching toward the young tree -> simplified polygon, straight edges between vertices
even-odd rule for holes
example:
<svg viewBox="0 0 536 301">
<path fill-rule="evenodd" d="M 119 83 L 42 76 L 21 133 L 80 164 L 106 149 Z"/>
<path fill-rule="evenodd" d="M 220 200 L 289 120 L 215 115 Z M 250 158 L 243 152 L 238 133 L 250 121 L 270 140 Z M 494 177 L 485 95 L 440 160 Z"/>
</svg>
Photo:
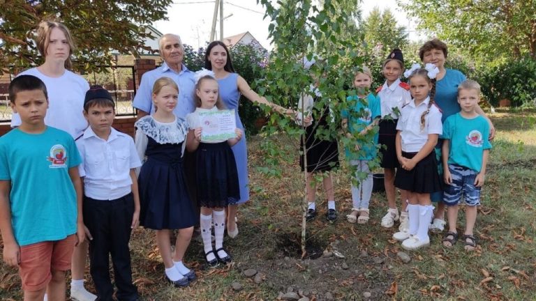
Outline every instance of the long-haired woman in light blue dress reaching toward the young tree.
<svg viewBox="0 0 536 301">
<path fill-rule="evenodd" d="M 244 131 L 244 125 L 242 125 L 240 116 L 238 115 L 240 95 L 244 95 L 248 100 L 253 102 L 267 105 L 281 114 L 294 114 L 294 111 L 269 102 L 266 98 L 263 98 L 255 93 L 255 91 L 250 88 L 246 80 L 234 72 L 229 50 L 221 41 L 214 41 L 210 43 L 207 47 L 207 53 L 205 54 L 204 58 L 204 67 L 208 70 L 212 70 L 214 75 L 216 75 L 216 79 L 218 80 L 219 84 L 219 92 L 223 103 L 225 103 L 225 106 L 228 109 L 234 109 L 235 111 L 235 116 L 237 117 L 237 128 Z M 248 148 L 246 145 L 245 134 L 239 143 L 232 147 L 232 152 L 234 153 L 234 159 L 237 162 L 238 182 L 240 185 L 240 200 L 236 205 L 228 206 L 227 233 L 231 238 L 235 238 L 238 235 L 238 227 L 235 220 L 238 205 L 249 200 Z"/>
</svg>

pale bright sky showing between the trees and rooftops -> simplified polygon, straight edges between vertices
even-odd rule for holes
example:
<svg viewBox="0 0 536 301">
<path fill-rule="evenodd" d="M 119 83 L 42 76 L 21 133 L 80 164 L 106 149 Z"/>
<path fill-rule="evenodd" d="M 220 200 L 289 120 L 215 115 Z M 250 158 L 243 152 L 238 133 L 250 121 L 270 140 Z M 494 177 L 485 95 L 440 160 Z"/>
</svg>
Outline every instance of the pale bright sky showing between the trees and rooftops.
<svg viewBox="0 0 536 301">
<path fill-rule="evenodd" d="M 413 31 L 415 26 L 408 20 L 405 13 L 398 8 L 396 0 L 363 0 L 363 17 L 373 10 L 375 6 L 384 10 L 390 8 L 399 25 L 410 30 L 410 40 L 417 40 Z M 225 0 L 223 1 L 223 37 L 234 36 L 249 31 L 259 43 L 271 49 L 268 40 L 269 20 L 263 20 L 265 8 L 257 4 L 256 0 Z M 167 21 L 158 21 L 154 27 L 162 33 L 176 33 L 181 36 L 183 43 L 193 47 L 204 47 L 209 40 L 212 17 L 214 14 L 214 0 L 174 0 L 168 9 Z M 219 13 L 216 34 L 219 39 Z"/>
</svg>

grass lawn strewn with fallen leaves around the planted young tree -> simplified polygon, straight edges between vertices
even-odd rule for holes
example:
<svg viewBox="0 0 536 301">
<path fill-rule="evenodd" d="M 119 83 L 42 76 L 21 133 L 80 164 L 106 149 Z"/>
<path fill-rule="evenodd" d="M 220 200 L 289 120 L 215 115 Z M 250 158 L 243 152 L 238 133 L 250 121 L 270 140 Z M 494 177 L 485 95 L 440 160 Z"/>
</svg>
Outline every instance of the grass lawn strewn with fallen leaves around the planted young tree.
<svg viewBox="0 0 536 301">
<path fill-rule="evenodd" d="M 251 201 L 239 210 L 238 238 L 225 239 L 234 263 L 204 268 L 202 246 L 193 240 L 186 263 L 198 272 L 198 280 L 188 288 L 173 288 L 163 281 L 154 233 L 137 229 L 131 254 L 141 300 L 278 300 L 288 291 L 311 300 L 536 300 L 536 112 L 501 110 L 491 117 L 498 133 L 477 217 L 475 252 L 464 252 L 463 240 L 445 249 L 441 236 L 432 234 L 431 246 L 407 252 L 411 261 L 403 263 L 396 255 L 403 250 L 391 238 L 395 229 L 380 226 L 387 209 L 383 194 L 373 194 L 368 224 L 345 221 L 352 205 L 348 169 L 343 167 L 335 175 L 338 221 L 325 222 L 327 204 L 319 196 L 319 216 L 308 224 L 309 250 L 326 254 L 302 260 L 303 180 L 295 141 L 251 137 Z M 281 154 L 267 155 L 265 143 L 285 147 Z M 266 160 L 274 159 L 283 170 L 279 178 L 260 172 Z M 461 210 L 459 233 L 463 217 Z M 258 276 L 246 277 L 246 269 L 255 269 Z M 241 289 L 233 289 L 234 282 Z M 89 272 L 86 285 L 94 289 Z M 0 299 L 22 300 L 16 270 L 3 263 Z"/>
</svg>

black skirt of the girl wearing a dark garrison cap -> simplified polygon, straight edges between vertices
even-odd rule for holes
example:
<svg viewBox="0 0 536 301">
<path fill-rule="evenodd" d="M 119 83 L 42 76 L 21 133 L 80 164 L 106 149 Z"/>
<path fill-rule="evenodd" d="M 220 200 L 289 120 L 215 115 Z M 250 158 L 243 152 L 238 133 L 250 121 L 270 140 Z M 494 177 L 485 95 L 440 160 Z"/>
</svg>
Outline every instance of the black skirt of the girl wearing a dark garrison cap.
<svg viewBox="0 0 536 301">
<path fill-rule="evenodd" d="M 380 167 L 395 169 L 399 168 L 399 160 L 396 158 L 396 123 L 398 119 L 380 121 L 380 132 L 378 144 L 381 144 L 380 153 L 382 154 L 382 162 Z M 385 146 L 385 147 L 384 147 Z"/>
</svg>

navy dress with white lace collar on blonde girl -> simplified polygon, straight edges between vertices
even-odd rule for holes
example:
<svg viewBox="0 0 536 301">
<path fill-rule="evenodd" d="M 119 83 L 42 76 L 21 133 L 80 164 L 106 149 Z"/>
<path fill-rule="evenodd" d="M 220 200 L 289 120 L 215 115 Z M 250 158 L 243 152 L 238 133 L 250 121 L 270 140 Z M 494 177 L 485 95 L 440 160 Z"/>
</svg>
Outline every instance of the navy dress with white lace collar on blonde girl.
<svg viewBox="0 0 536 301">
<path fill-rule="evenodd" d="M 185 229 L 195 225 L 195 215 L 186 188 L 182 144 L 186 122 L 159 124 L 151 116 L 135 123 L 147 136 L 147 160 L 137 178 L 140 192 L 140 225 L 147 229 Z"/>
</svg>

